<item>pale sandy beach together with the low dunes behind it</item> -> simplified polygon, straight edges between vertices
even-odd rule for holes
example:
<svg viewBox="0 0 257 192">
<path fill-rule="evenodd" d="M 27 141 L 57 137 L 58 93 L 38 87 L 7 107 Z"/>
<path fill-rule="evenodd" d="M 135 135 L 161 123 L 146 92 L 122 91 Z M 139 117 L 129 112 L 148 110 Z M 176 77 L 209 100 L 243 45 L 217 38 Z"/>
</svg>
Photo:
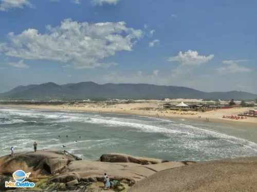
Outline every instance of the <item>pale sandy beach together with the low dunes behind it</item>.
<svg viewBox="0 0 257 192">
<path fill-rule="evenodd" d="M 93 113 L 116 113 L 116 114 L 128 114 L 138 116 L 150 116 L 159 118 L 185 118 L 199 121 L 206 121 L 209 118 L 210 122 L 221 122 L 227 124 L 249 124 L 253 125 L 257 123 L 257 118 L 248 117 L 247 119 L 224 119 L 223 116 L 238 115 L 244 113 L 253 108 L 232 108 L 232 109 L 219 109 L 216 111 L 209 111 L 205 113 L 201 112 L 181 112 L 174 114 L 171 110 L 161 109 L 163 102 L 150 101 L 150 102 L 136 102 L 128 104 L 112 104 L 106 103 L 82 103 L 82 104 L 62 104 L 62 105 L 6 105 L 0 104 L 4 107 L 12 108 L 25 108 L 25 109 L 39 109 L 39 110 L 65 110 L 65 111 L 85 111 Z M 146 108 L 150 108 L 146 110 Z M 201 118 L 199 118 L 199 116 Z"/>
</svg>

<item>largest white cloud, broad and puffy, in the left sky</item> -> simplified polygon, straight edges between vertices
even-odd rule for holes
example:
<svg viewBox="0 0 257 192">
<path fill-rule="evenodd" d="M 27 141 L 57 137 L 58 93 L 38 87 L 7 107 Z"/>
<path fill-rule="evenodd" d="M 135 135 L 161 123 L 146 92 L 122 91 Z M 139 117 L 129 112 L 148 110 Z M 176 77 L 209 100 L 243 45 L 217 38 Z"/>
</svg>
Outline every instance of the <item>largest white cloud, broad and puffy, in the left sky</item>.
<svg viewBox="0 0 257 192">
<path fill-rule="evenodd" d="M 9 43 L 0 44 L 0 53 L 23 59 L 46 59 L 71 62 L 75 68 L 96 68 L 117 65 L 101 59 L 118 51 L 132 51 L 142 36 L 141 30 L 118 23 L 78 23 L 65 19 L 60 26 L 47 26 L 45 34 L 27 29 L 20 34 L 10 32 Z"/>
</svg>

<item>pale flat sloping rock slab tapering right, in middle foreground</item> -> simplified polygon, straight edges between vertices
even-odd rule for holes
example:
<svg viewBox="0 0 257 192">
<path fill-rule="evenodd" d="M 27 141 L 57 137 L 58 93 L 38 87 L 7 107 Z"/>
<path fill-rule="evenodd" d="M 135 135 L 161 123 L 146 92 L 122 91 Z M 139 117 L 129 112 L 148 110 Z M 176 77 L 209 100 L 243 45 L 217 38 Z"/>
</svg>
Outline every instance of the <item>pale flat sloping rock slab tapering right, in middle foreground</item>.
<svg viewBox="0 0 257 192">
<path fill-rule="evenodd" d="M 62 170 L 60 175 L 54 176 L 53 182 L 68 182 L 76 179 L 74 173 L 77 173 L 82 181 L 94 182 L 103 181 L 103 174 L 115 180 L 139 181 L 149 177 L 154 173 L 177 166 L 185 166 L 181 162 L 166 162 L 160 164 L 140 165 L 137 163 L 108 163 L 99 161 L 72 161 Z M 72 176 L 72 177 L 71 177 Z M 71 178 L 71 179 L 69 179 Z M 78 179 L 78 181 L 80 181 Z"/>
</svg>

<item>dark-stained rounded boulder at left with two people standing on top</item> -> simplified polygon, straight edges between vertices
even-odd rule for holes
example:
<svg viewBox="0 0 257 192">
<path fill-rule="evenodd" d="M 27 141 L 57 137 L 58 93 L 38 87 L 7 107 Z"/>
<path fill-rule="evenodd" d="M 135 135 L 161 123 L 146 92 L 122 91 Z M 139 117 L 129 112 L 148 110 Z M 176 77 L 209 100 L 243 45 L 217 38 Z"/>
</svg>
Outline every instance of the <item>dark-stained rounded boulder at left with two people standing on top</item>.
<svg viewBox="0 0 257 192">
<path fill-rule="evenodd" d="M 14 157 L 7 155 L 0 158 L 0 174 L 12 176 L 13 172 L 22 169 L 26 173 L 30 172 L 31 177 L 41 178 L 60 172 L 76 159 L 76 156 L 70 154 L 65 159 L 63 152 L 53 150 L 16 153 Z"/>
</svg>

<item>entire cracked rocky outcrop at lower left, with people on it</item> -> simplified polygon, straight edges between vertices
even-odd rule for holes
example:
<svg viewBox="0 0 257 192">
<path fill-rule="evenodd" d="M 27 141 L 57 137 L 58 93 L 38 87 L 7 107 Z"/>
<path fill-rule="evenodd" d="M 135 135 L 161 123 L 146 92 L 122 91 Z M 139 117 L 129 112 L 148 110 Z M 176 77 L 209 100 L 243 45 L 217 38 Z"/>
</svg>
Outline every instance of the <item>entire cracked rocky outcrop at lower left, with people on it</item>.
<svg viewBox="0 0 257 192">
<path fill-rule="evenodd" d="M 3 187 L 5 181 L 13 180 L 12 173 L 18 169 L 30 172 L 27 180 L 35 182 L 36 189 L 41 191 L 86 191 L 91 183 L 98 183 L 94 186 L 99 188 L 99 184 L 103 185 L 104 173 L 111 180 L 119 181 L 115 185 L 119 191 L 160 170 L 185 165 L 185 162 L 167 162 L 125 154 L 104 154 L 98 161 L 85 161 L 71 154 L 65 159 L 61 151 L 23 152 L 14 157 L 0 158 L 0 190 L 6 190 Z"/>
</svg>

